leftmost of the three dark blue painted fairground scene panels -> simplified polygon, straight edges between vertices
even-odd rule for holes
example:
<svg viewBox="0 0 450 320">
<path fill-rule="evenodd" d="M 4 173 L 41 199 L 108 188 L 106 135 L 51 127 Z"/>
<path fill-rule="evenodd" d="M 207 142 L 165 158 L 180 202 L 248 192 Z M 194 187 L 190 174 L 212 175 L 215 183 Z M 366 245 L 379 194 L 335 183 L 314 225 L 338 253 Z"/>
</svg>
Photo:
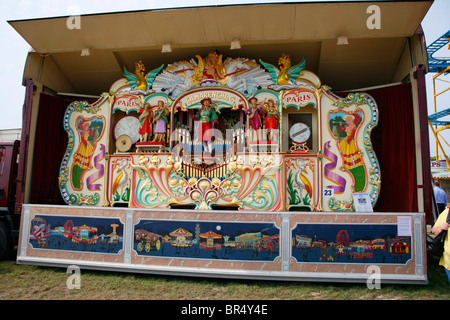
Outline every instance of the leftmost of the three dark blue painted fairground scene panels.
<svg viewBox="0 0 450 320">
<path fill-rule="evenodd" d="M 123 248 L 123 224 L 114 218 L 35 216 L 29 243 L 35 249 L 117 254 Z"/>
</svg>

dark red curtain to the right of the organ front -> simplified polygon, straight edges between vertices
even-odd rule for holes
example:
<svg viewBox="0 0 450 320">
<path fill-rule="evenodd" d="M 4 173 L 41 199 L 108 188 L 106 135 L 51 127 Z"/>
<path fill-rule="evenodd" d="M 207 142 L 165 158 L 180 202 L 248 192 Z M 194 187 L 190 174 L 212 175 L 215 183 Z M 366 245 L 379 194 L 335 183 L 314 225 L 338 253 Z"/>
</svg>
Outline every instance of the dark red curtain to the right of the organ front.
<svg viewBox="0 0 450 320">
<path fill-rule="evenodd" d="M 417 212 L 416 152 L 410 84 L 365 91 L 379 110 L 371 140 L 381 171 L 376 212 Z M 346 94 L 342 94 L 345 97 Z"/>
</svg>

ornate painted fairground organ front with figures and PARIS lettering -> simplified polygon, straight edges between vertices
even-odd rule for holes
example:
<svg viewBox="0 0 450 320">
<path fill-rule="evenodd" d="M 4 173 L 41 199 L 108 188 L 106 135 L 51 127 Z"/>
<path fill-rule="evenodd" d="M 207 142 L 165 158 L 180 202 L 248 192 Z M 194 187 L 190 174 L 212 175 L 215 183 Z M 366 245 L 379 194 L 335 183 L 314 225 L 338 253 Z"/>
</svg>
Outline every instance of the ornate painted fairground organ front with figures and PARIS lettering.
<svg viewBox="0 0 450 320">
<path fill-rule="evenodd" d="M 65 114 L 59 185 L 69 205 L 356 211 L 380 189 L 378 109 L 342 98 L 282 55 L 277 66 L 216 52 L 150 71 L 142 62 Z"/>
</svg>

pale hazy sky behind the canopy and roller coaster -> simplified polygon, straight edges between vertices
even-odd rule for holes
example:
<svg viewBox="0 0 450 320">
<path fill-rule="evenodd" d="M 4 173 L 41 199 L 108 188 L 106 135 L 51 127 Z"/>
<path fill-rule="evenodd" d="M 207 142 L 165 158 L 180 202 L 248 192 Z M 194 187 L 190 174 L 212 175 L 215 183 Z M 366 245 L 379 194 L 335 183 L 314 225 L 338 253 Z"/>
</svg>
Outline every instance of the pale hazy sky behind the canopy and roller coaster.
<svg viewBox="0 0 450 320">
<path fill-rule="evenodd" d="M 317 0 L 312 0 L 312 2 Z M 74 10 L 79 10 L 81 14 L 128 11 L 141 9 L 160 9 L 183 6 L 201 6 L 218 4 L 243 4 L 243 3 L 261 3 L 264 1 L 247 0 L 245 2 L 238 0 L 228 1 L 193 1 L 193 0 L 82 0 L 82 1 L 61 1 L 61 0 L 21 0 L 6 1 L 0 0 L 0 37 L 3 43 L 0 51 L 0 94 L 2 104 L 0 106 L 0 129 L 20 128 L 22 121 L 22 105 L 24 100 L 24 88 L 22 86 L 22 73 L 26 55 L 30 46 L 22 37 L 7 23 L 8 20 L 44 18 L 54 16 L 66 16 L 74 14 Z M 276 2 L 298 2 L 289 0 L 271 0 Z M 450 29 L 450 1 L 435 0 L 422 22 L 425 32 L 427 45 L 432 43 L 438 37 Z M 441 52 L 440 52 L 441 53 Z M 440 56 L 450 56 L 449 50 L 442 50 Z M 433 103 L 433 74 L 427 75 L 427 94 L 429 113 L 434 113 Z M 449 79 L 447 79 L 449 80 Z M 438 111 L 450 108 L 450 92 L 438 100 Z M 448 131 L 448 130 L 447 130 Z M 448 136 L 450 143 L 450 133 L 444 133 Z M 431 154 L 435 154 L 434 139 L 431 138 Z M 450 148 L 446 147 L 447 150 Z"/>
</svg>

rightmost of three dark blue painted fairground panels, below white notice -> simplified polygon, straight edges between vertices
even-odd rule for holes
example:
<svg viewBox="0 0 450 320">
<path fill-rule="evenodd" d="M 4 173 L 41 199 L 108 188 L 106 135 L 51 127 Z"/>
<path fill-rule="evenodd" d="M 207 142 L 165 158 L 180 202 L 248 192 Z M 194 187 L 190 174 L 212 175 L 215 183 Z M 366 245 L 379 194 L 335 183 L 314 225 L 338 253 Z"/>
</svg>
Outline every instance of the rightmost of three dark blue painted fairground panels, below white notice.
<svg viewBox="0 0 450 320">
<path fill-rule="evenodd" d="M 405 264 L 411 237 L 398 236 L 397 225 L 299 224 L 292 230 L 297 262 Z"/>
</svg>

